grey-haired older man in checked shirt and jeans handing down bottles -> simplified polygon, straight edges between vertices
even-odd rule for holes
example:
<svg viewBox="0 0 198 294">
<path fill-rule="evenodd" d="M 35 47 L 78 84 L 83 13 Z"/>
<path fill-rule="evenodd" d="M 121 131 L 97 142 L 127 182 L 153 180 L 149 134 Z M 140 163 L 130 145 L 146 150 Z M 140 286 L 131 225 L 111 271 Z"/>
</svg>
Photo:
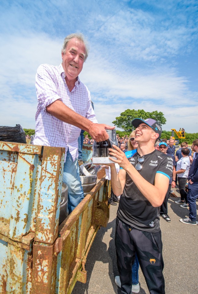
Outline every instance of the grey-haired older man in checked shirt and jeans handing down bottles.
<svg viewBox="0 0 198 294">
<path fill-rule="evenodd" d="M 65 148 L 63 182 L 68 186 L 70 213 L 84 198 L 77 162 L 81 129 L 94 140 L 103 141 L 109 137 L 106 129 L 114 127 L 97 123 L 90 92 L 78 77 L 88 56 L 83 35 L 67 36 L 61 54 L 59 66 L 42 64 L 37 70 L 34 145 Z"/>
</svg>

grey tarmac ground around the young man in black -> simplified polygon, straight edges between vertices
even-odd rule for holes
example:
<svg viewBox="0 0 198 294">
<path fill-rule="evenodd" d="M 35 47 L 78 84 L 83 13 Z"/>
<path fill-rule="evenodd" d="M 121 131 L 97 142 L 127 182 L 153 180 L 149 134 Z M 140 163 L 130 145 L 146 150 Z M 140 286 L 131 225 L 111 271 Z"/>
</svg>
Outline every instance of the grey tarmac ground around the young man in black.
<svg viewBox="0 0 198 294">
<path fill-rule="evenodd" d="M 180 218 L 189 216 L 188 208 L 181 208 L 175 201 L 179 190 L 173 189 L 178 198 L 168 199 L 171 222 L 160 217 L 163 241 L 164 279 L 166 294 L 198 294 L 198 226 L 183 224 Z M 197 209 L 198 209 L 198 202 Z M 110 206 L 110 219 L 106 228 L 98 231 L 88 253 L 85 269 L 87 283 L 77 282 L 72 294 L 120 294 L 114 277 L 118 275 L 115 252 L 115 219 L 117 206 Z M 198 217 L 197 217 L 198 220 Z M 139 269 L 139 294 L 149 294 L 141 269 Z"/>
</svg>

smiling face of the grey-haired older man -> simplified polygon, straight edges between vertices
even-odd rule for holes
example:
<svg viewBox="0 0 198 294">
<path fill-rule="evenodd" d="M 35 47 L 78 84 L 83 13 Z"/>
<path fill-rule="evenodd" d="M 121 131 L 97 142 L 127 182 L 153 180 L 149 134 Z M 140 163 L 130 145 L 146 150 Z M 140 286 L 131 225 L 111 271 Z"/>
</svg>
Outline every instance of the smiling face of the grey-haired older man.
<svg viewBox="0 0 198 294">
<path fill-rule="evenodd" d="M 65 53 L 62 52 L 62 65 L 69 81 L 76 79 L 80 74 L 83 68 L 85 54 L 85 44 L 81 40 L 73 38 L 67 43 Z"/>
</svg>

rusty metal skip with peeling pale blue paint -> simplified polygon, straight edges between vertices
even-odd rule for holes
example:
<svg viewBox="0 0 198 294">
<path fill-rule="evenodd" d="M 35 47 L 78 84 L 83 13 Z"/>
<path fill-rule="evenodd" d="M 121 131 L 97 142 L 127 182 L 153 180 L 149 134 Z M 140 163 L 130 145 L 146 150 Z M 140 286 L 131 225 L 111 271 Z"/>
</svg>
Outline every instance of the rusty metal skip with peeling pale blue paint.
<svg viewBox="0 0 198 294">
<path fill-rule="evenodd" d="M 110 185 L 100 171 L 59 225 L 64 152 L 0 142 L 1 294 L 70 294 L 76 281 L 86 283 L 87 254 L 109 220 Z"/>
</svg>

